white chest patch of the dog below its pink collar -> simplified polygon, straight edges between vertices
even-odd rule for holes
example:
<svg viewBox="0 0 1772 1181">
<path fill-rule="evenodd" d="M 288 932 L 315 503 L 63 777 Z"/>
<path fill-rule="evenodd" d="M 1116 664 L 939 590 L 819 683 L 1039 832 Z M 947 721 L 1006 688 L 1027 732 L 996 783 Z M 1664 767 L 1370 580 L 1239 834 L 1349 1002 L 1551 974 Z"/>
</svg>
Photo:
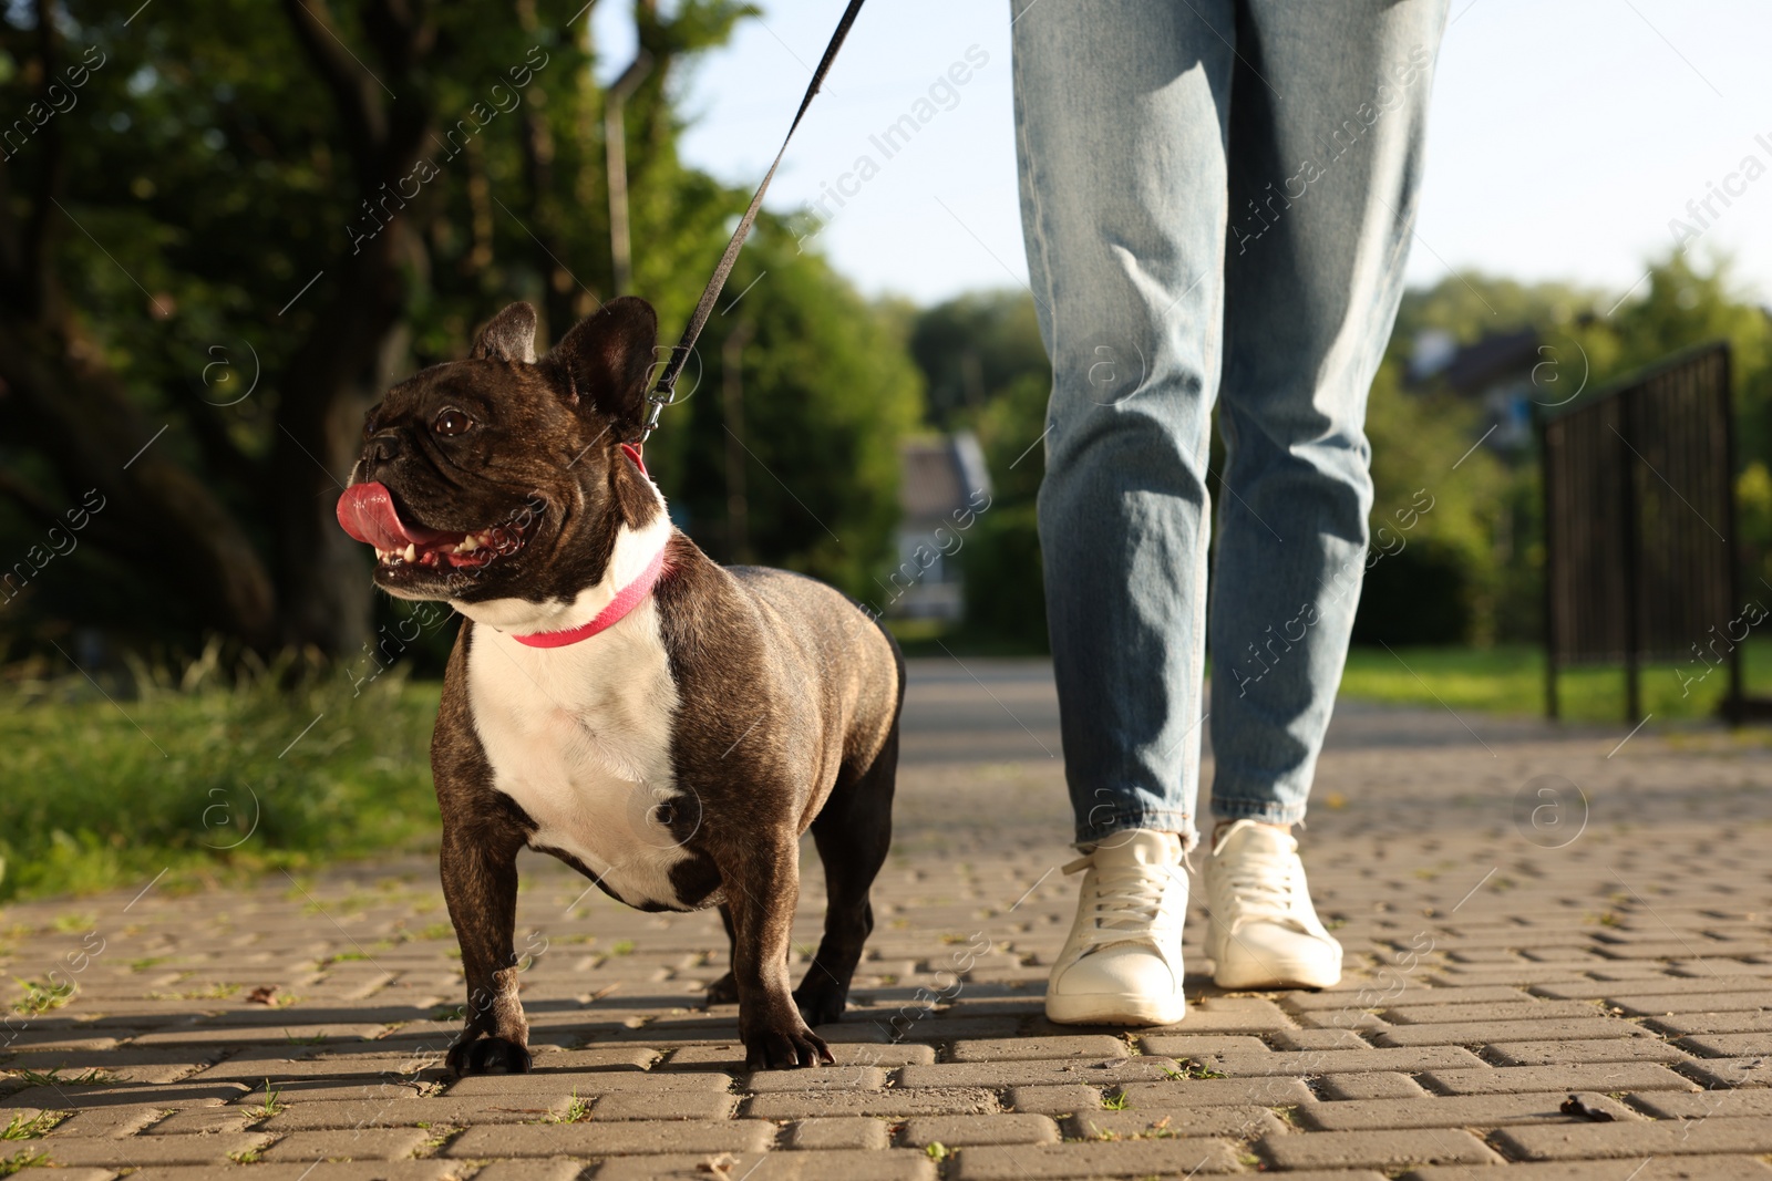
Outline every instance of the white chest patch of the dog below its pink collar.
<svg viewBox="0 0 1772 1181">
<path fill-rule="evenodd" d="M 475 627 L 468 689 L 493 786 L 537 825 L 530 845 L 572 855 L 629 905 L 680 907 L 670 868 L 686 834 L 664 823 L 682 806 L 677 687 L 656 604 L 563 648 Z"/>
</svg>

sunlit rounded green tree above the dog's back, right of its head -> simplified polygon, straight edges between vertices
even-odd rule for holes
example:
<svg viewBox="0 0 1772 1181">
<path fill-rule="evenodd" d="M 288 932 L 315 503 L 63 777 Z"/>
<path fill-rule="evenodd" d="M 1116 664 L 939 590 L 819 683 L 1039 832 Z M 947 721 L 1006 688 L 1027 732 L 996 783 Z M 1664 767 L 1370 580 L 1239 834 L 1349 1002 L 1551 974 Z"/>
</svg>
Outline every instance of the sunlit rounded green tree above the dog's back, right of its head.
<svg viewBox="0 0 1772 1181">
<path fill-rule="evenodd" d="M 902 313 L 863 301 L 774 220 L 758 221 L 719 306 L 686 372 L 684 402 L 664 411 L 647 446 L 649 469 L 679 524 L 716 556 L 870 597 L 872 577 L 891 563 L 898 439 L 921 414 Z M 739 407 L 730 414 L 734 340 Z M 734 457 L 748 505 L 744 547 L 727 528 Z"/>
</svg>

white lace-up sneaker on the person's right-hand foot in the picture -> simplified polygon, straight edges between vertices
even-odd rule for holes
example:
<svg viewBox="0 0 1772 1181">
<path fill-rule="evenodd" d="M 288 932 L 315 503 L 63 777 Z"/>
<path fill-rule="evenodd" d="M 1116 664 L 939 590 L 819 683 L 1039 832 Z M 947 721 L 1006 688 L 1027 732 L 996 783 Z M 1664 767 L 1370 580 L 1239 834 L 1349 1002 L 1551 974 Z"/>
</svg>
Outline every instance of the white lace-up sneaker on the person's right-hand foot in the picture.
<svg viewBox="0 0 1772 1181">
<path fill-rule="evenodd" d="M 1255 820 L 1224 829 L 1205 866 L 1207 958 L 1219 988 L 1329 988 L 1341 944 L 1317 921 L 1299 843 Z"/>
</svg>

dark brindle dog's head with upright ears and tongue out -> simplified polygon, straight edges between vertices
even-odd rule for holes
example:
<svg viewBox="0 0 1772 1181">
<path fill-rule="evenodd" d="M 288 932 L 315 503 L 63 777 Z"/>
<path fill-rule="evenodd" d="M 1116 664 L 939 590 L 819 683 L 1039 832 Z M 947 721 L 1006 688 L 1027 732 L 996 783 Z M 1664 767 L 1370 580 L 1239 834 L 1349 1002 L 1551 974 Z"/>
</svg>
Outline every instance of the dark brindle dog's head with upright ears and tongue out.
<svg viewBox="0 0 1772 1181">
<path fill-rule="evenodd" d="M 620 297 L 535 356 L 535 308 L 514 303 L 464 361 L 388 390 L 338 524 L 376 547 L 402 598 L 571 598 L 595 584 L 620 526 L 663 512 L 624 455 L 645 418 L 657 315 Z"/>
</svg>

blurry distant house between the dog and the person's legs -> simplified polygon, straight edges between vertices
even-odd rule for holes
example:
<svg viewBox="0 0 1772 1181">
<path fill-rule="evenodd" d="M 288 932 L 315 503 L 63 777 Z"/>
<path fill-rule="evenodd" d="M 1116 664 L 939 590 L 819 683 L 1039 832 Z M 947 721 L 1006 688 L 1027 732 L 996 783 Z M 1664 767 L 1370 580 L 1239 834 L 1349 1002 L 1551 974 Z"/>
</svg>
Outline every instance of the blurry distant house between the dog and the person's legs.
<svg viewBox="0 0 1772 1181">
<path fill-rule="evenodd" d="M 991 473 L 969 430 L 916 436 L 898 444 L 898 567 L 882 579 L 891 597 L 886 614 L 959 621 L 966 611 L 955 536 L 969 521 L 976 494 L 991 492 Z M 959 515 L 959 517 L 957 517 Z M 943 552 L 948 551 L 948 552 Z"/>
</svg>

